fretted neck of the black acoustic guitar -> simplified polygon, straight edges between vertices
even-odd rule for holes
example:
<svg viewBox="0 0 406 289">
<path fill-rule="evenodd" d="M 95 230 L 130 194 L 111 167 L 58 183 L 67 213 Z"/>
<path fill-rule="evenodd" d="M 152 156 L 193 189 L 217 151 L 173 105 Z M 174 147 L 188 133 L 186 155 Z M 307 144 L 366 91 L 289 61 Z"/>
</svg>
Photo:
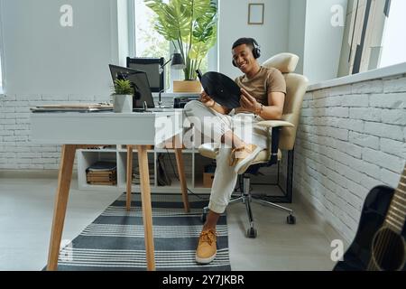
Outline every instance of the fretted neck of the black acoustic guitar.
<svg viewBox="0 0 406 289">
<path fill-rule="evenodd" d="M 401 181 L 394 191 L 391 205 L 384 224 L 398 234 L 401 234 L 406 220 L 406 165 L 401 174 Z"/>
</svg>

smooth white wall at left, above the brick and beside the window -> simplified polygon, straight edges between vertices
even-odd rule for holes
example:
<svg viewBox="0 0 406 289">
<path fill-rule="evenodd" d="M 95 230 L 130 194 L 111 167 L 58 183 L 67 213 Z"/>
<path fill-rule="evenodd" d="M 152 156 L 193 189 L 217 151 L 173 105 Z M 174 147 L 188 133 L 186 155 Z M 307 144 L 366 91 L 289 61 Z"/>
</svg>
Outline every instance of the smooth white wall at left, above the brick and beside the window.
<svg viewBox="0 0 406 289">
<path fill-rule="evenodd" d="M 7 94 L 109 94 L 107 64 L 118 57 L 115 1 L 1 1 Z M 60 26 L 66 4 L 73 27 Z"/>
</svg>

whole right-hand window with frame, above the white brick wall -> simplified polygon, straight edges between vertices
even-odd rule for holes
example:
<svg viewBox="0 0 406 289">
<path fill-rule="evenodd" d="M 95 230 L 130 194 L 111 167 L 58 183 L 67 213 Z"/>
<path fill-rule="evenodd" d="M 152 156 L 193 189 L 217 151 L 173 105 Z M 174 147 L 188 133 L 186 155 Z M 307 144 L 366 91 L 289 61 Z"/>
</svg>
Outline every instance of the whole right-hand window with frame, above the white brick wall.
<svg viewBox="0 0 406 289">
<path fill-rule="evenodd" d="M 345 28 L 338 76 L 405 62 L 406 1 L 354 0 L 352 4 L 347 8 L 350 19 Z"/>
</svg>

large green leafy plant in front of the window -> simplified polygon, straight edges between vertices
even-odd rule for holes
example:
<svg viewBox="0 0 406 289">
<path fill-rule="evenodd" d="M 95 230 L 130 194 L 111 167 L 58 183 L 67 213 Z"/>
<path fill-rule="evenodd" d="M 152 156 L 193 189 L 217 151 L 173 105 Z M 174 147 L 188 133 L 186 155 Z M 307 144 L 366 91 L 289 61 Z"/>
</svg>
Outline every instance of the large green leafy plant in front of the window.
<svg viewBox="0 0 406 289">
<path fill-rule="evenodd" d="M 185 79 L 196 70 L 217 41 L 217 5 L 211 0 L 144 0 L 157 15 L 154 27 L 172 42 L 185 60 Z"/>
</svg>

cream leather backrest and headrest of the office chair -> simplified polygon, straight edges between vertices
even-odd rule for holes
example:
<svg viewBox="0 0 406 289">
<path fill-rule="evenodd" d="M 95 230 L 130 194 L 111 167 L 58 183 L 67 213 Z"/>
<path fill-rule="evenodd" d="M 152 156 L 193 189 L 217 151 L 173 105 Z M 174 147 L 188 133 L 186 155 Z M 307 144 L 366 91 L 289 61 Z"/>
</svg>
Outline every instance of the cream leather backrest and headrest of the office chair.
<svg viewBox="0 0 406 289">
<path fill-rule="evenodd" d="M 281 129 L 279 148 L 292 150 L 296 140 L 296 131 L 299 125 L 300 108 L 308 89 L 309 80 L 296 73 L 292 73 L 298 65 L 299 56 L 291 53 L 280 53 L 263 62 L 263 67 L 275 68 L 283 73 L 286 81 L 286 98 L 283 107 L 282 120 L 288 121 L 294 127 Z"/>
</svg>

